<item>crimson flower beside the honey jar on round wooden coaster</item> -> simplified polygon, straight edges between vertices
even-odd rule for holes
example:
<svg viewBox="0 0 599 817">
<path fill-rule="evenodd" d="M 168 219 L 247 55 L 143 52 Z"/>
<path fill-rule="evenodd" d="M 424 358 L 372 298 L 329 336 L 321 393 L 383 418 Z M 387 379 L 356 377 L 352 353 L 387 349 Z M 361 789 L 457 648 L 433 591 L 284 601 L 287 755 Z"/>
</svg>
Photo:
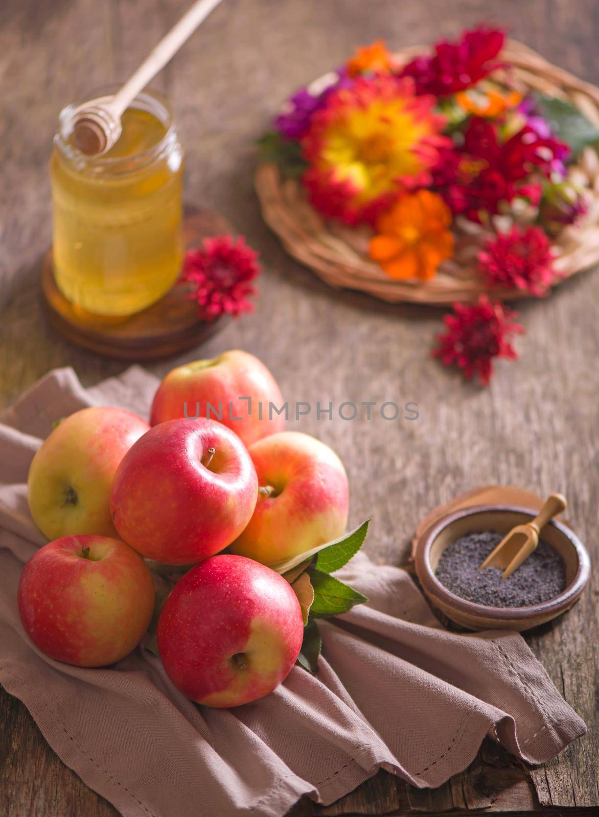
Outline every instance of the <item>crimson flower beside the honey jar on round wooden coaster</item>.
<svg viewBox="0 0 599 817">
<path fill-rule="evenodd" d="M 253 310 L 247 299 L 256 294 L 250 282 L 260 272 L 257 258 L 242 236 L 234 240 L 230 235 L 204 239 L 202 247 L 185 253 L 181 280 L 194 285 L 187 297 L 197 301 L 201 320 Z"/>
</svg>

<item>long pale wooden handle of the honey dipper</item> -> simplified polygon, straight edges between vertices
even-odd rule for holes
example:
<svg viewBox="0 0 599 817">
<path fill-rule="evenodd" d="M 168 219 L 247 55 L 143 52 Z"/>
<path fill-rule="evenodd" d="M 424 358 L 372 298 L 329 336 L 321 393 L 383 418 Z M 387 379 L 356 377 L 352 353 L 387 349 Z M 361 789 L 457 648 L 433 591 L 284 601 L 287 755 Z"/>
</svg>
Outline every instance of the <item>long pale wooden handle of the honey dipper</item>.
<svg viewBox="0 0 599 817">
<path fill-rule="evenodd" d="M 135 74 L 129 77 L 119 92 L 113 96 L 106 107 L 116 117 L 124 112 L 131 100 L 142 91 L 155 77 L 164 65 L 177 53 L 182 44 L 191 37 L 198 25 L 202 23 L 211 11 L 218 6 L 220 0 L 196 0 L 189 11 L 182 16 L 169 33 L 164 36 L 158 45 L 148 54 Z"/>
</svg>

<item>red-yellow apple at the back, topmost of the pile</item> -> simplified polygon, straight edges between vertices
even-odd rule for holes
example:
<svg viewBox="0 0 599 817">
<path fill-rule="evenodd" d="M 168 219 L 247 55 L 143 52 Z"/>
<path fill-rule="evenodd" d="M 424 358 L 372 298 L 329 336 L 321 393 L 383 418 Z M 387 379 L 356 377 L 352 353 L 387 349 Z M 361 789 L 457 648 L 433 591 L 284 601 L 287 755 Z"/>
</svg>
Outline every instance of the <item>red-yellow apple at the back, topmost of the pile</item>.
<svg viewBox="0 0 599 817">
<path fill-rule="evenodd" d="M 173 368 L 156 391 L 150 423 L 176 417 L 210 417 L 251 445 L 285 427 L 283 398 L 268 368 L 248 352 L 232 350 L 211 360 Z"/>
</svg>

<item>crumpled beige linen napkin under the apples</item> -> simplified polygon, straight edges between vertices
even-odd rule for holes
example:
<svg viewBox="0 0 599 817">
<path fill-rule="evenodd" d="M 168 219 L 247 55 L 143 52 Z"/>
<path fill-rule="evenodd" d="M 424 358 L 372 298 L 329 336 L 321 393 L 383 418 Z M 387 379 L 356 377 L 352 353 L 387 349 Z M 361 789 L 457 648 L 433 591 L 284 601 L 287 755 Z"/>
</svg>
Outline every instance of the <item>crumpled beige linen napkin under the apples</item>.
<svg viewBox="0 0 599 817">
<path fill-rule="evenodd" d="M 302 794 L 331 803 L 381 766 L 439 786 L 488 733 L 532 763 L 584 733 L 519 635 L 445 631 L 404 570 L 359 554 L 338 575 L 369 603 L 321 623 L 318 677 L 295 667 L 244 707 L 197 707 L 142 648 L 97 670 L 40 654 L 16 608 L 20 569 L 44 542 L 27 509 L 29 462 L 52 421 L 83 406 L 146 417 L 156 383 L 135 367 L 84 390 L 60 369 L 0 418 L 0 681 L 123 815 L 281 817 Z"/>
</svg>

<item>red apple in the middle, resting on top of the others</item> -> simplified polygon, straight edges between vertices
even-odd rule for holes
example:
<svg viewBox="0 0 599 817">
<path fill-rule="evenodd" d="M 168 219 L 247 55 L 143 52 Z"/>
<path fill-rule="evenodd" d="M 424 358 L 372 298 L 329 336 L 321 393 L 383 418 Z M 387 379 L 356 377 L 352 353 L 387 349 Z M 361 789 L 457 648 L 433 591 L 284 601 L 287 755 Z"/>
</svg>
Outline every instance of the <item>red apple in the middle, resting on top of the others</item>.
<svg viewBox="0 0 599 817">
<path fill-rule="evenodd" d="M 188 565 L 231 544 L 250 521 L 258 479 L 236 434 L 214 420 L 168 420 L 125 454 L 110 511 L 149 559 Z"/>
</svg>

